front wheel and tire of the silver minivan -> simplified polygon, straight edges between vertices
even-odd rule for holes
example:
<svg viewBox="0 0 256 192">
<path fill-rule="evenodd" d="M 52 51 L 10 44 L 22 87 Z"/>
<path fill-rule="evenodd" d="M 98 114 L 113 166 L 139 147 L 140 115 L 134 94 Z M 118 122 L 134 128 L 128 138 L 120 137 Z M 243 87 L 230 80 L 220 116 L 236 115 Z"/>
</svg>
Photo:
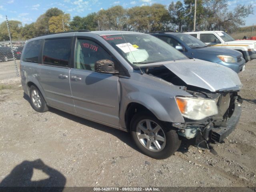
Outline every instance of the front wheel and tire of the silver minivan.
<svg viewBox="0 0 256 192">
<path fill-rule="evenodd" d="M 135 114 L 131 120 L 130 130 L 140 151 L 154 159 L 170 157 L 181 144 L 176 130 L 168 128 L 166 123 L 150 113 Z"/>
</svg>

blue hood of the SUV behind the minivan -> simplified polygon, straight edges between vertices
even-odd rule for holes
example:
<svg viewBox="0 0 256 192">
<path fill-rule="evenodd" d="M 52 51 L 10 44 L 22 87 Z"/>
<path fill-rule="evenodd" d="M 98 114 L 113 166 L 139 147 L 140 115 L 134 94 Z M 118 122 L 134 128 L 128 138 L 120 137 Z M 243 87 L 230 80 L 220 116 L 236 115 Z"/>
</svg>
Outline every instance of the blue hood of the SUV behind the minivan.
<svg viewBox="0 0 256 192">
<path fill-rule="evenodd" d="M 193 49 L 197 53 L 204 54 L 211 54 L 211 55 L 228 55 L 232 57 L 240 57 L 242 54 L 239 51 L 233 50 L 233 49 L 227 49 L 227 48 L 221 48 L 221 47 L 204 47 L 204 48 L 197 48 Z"/>
</svg>

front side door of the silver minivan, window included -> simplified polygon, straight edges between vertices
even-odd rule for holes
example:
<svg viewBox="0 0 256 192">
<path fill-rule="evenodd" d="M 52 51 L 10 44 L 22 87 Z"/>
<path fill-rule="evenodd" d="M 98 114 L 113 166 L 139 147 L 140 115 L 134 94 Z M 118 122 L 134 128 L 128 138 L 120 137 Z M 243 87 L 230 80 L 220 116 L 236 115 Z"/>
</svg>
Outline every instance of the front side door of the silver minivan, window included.
<svg viewBox="0 0 256 192">
<path fill-rule="evenodd" d="M 77 39 L 70 86 L 76 112 L 81 116 L 119 125 L 118 76 L 94 71 L 94 63 L 112 57 L 96 42 Z"/>
</svg>

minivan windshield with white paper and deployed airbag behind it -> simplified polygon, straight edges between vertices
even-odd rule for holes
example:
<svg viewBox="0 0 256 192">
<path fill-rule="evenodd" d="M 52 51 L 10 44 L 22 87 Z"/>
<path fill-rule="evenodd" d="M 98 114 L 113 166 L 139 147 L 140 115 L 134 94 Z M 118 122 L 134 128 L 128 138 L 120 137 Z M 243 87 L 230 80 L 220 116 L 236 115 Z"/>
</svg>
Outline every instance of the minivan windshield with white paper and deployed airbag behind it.
<svg viewBox="0 0 256 192">
<path fill-rule="evenodd" d="M 188 59 L 166 42 L 149 34 L 103 35 L 102 38 L 112 45 L 130 64 L 135 66 Z"/>
</svg>

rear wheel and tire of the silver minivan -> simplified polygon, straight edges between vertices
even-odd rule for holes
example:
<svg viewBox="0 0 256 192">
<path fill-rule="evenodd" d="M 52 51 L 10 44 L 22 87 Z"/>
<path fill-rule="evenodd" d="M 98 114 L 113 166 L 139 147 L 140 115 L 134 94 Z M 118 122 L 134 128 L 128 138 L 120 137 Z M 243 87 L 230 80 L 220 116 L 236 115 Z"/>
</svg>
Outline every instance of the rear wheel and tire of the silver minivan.
<svg viewBox="0 0 256 192">
<path fill-rule="evenodd" d="M 34 110 L 41 113 L 48 111 L 48 107 L 46 105 L 44 97 L 42 96 L 38 88 L 36 88 L 33 85 L 30 87 L 29 97 L 30 97 L 30 105 Z"/>
</svg>

